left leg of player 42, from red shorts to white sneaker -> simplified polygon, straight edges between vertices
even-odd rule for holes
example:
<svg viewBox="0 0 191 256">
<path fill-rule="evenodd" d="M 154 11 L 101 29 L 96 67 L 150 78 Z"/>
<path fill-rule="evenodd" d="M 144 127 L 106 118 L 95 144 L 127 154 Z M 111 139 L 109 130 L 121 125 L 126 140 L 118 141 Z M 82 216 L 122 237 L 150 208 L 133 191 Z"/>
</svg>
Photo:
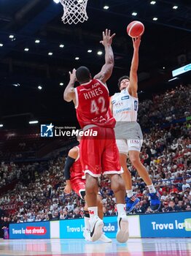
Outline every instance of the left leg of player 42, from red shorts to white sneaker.
<svg viewBox="0 0 191 256">
<path fill-rule="evenodd" d="M 92 127 L 97 129 L 98 127 Z M 90 214 L 90 236 L 93 241 L 101 237 L 104 222 L 98 217 L 98 177 L 101 176 L 101 141 L 96 138 L 82 138 L 80 161 L 85 170 L 85 195 Z"/>
</svg>

